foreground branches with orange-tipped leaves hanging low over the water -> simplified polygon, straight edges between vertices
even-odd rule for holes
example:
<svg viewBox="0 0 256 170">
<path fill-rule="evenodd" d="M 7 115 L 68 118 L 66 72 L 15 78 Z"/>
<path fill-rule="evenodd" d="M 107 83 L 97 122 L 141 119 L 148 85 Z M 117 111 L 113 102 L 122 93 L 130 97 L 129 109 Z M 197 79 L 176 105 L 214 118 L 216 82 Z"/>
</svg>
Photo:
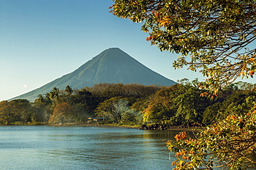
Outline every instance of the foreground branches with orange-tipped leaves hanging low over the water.
<svg viewBox="0 0 256 170">
<path fill-rule="evenodd" d="M 185 132 L 167 142 L 176 152 L 175 169 L 246 169 L 255 167 L 250 156 L 256 153 L 256 105 L 245 115 L 226 119 L 188 138 Z"/>
</svg>

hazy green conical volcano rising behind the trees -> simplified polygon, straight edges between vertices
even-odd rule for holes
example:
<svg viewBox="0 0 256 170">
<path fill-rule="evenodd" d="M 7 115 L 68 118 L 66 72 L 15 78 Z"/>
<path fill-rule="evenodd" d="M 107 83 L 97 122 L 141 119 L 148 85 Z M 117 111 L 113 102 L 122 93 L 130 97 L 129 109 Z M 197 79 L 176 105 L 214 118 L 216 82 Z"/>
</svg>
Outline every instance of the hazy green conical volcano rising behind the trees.
<svg viewBox="0 0 256 170">
<path fill-rule="evenodd" d="M 74 72 L 12 99 L 26 98 L 33 101 L 39 94 L 51 92 L 53 87 L 65 89 L 67 85 L 71 85 L 73 89 L 81 89 L 82 87 L 92 87 L 98 83 L 170 86 L 176 82 L 145 67 L 118 47 L 111 47 L 81 65 Z"/>
</svg>

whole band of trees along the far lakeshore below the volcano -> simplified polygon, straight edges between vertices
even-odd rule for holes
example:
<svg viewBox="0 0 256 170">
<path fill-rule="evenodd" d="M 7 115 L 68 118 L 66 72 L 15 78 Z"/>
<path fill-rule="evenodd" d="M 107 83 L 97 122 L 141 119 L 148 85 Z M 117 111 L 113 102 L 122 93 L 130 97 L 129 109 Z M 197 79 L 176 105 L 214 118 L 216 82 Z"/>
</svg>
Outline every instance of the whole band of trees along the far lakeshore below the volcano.
<svg viewBox="0 0 256 170">
<path fill-rule="evenodd" d="M 233 83 L 220 96 L 208 98 L 188 79 L 170 87 L 100 83 L 82 89 L 53 88 L 34 102 L 17 99 L 0 103 L 0 125 L 168 125 L 205 127 L 232 111 L 246 114 L 255 99 L 254 85 Z M 104 118 L 95 122 L 89 118 Z"/>
</svg>

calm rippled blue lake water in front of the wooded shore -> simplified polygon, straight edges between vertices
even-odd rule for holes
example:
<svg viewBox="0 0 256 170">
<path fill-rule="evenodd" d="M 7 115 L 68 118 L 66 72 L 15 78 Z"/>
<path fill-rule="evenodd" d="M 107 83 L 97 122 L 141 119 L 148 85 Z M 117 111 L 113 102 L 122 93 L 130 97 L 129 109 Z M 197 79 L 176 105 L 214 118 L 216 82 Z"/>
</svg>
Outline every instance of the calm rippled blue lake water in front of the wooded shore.
<svg viewBox="0 0 256 170">
<path fill-rule="evenodd" d="M 172 169 L 163 140 L 179 131 L 0 127 L 0 169 Z M 170 160 L 171 159 L 171 160 Z"/>
</svg>

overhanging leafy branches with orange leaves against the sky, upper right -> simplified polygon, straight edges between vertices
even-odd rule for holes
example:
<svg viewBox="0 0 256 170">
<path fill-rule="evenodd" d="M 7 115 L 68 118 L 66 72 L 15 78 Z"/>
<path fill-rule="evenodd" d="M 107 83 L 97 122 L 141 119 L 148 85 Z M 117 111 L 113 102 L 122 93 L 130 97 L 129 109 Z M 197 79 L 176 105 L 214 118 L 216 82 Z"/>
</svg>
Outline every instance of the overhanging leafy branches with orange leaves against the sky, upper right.
<svg viewBox="0 0 256 170">
<path fill-rule="evenodd" d="M 208 76 L 200 87 L 217 90 L 238 76 L 255 74 L 256 1 L 114 0 L 112 14 L 143 23 L 147 41 L 181 54 L 175 68 L 188 65 Z M 190 56 L 190 57 L 188 57 Z"/>
</svg>

